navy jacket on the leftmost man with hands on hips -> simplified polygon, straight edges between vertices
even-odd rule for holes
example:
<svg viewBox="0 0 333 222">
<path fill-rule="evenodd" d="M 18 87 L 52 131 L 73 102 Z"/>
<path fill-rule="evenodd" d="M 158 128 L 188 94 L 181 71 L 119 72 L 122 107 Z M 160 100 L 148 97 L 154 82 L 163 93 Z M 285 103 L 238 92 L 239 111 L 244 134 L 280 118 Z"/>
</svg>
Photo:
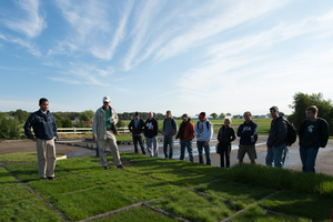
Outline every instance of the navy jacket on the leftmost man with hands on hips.
<svg viewBox="0 0 333 222">
<path fill-rule="evenodd" d="M 50 111 L 48 111 L 46 115 L 39 110 L 28 118 L 23 128 L 26 135 L 32 140 L 33 134 L 31 132 L 31 127 L 34 137 L 38 139 L 52 140 L 54 137 L 58 137 L 56 118 Z"/>
</svg>

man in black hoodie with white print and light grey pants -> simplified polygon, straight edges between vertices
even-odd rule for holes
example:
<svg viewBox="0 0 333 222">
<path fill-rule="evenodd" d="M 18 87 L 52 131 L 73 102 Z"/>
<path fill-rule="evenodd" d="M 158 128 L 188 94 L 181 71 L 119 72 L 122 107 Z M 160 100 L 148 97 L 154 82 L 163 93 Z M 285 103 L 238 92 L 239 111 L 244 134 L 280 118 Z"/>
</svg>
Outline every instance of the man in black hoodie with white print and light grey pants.
<svg viewBox="0 0 333 222">
<path fill-rule="evenodd" d="M 149 119 L 144 123 L 144 137 L 148 154 L 159 157 L 157 135 L 159 134 L 159 122 L 153 118 L 153 112 L 149 113 Z"/>
</svg>

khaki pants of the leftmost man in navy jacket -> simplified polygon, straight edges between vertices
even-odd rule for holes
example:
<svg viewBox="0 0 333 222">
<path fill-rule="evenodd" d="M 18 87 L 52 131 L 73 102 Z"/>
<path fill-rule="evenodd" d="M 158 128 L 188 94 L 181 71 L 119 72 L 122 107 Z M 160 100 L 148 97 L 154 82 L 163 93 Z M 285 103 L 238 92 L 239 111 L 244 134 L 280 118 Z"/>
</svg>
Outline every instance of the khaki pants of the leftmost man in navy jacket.
<svg viewBox="0 0 333 222">
<path fill-rule="evenodd" d="M 38 139 L 36 142 L 37 155 L 38 155 L 38 171 L 40 178 L 54 176 L 56 168 L 56 145 L 54 139 L 52 140 L 41 140 Z"/>
</svg>

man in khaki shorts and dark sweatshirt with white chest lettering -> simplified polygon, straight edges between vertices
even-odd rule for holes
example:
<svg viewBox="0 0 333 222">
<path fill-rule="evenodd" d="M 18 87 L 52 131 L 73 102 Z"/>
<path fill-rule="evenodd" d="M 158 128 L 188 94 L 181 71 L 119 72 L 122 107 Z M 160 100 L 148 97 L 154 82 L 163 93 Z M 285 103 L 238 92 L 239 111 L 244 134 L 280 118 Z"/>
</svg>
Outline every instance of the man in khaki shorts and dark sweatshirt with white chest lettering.
<svg viewBox="0 0 333 222">
<path fill-rule="evenodd" d="M 244 112 L 244 123 L 241 124 L 238 129 L 238 137 L 240 137 L 240 149 L 238 152 L 239 163 L 244 162 L 244 157 L 248 153 L 251 164 L 255 164 L 256 151 L 255 151 L 255 142 L 256 142 L 256 130 L 258 124 L 252 121 L 251 112 Z"/>
</svg>

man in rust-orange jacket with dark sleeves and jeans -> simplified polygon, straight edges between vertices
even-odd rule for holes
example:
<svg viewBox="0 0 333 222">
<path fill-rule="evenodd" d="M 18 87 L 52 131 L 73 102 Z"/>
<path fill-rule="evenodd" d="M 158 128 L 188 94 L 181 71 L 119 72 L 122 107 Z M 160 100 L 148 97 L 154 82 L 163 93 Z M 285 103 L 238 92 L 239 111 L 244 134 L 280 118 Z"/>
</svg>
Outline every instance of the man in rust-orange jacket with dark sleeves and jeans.
<svg viewBox="0 0 333 222">
<path fill-rule="evenodd" d="M 191 122 L 191 118 L 185 113 L 182 117 L 183 122 L 179 127 L 178 134 L 175 139 L 180 139 L 181 154 L 180 160 L 184 160 L 185 148 L 189 152 L 190 161 L 193 162 L 193 151 L 192 151 L 192 139 L 194 138 L 194 124 Z"/>
</svg>

